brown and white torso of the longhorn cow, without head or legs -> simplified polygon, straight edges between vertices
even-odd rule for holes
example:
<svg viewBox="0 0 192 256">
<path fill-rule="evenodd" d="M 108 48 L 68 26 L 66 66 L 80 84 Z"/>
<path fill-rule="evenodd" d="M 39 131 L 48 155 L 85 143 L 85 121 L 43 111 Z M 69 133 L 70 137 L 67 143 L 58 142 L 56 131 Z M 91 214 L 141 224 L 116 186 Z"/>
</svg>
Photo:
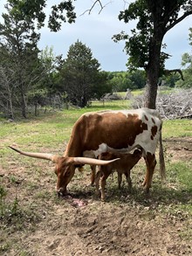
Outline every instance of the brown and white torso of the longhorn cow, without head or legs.
<svg viewBox="0 0 192 256">
<path fill-rule="evenodd" d="M 113 149 L 130 150 L 140 145 L 154 153 L 160 129 L 160 115 L 153 109 L 86 113 L 72 129 L 67 155 L 82 156 L 83 151 L 97 150 L 102 143 Z"/>
</svg>

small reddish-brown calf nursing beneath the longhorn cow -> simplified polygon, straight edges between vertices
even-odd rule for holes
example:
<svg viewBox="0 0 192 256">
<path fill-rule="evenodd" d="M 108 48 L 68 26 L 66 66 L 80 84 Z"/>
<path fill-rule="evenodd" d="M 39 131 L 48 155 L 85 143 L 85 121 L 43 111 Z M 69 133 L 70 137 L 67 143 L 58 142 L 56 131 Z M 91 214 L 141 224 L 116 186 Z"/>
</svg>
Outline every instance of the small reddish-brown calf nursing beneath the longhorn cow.
<svg viewBox="0 0 192 256">
<path fill-rule="evenodd" d="M 118 172 L 118 185 L 122 181 L 122 174 L 125 174 L 128 183 L 128 189 L 131 190 L 132 182 L 130 178 L 130 170 L 141 159 L 142 151 L 135 149 L 134 153 L 122 154 L 119 152 L 105 152 L 99 155 L 99 160 L 112 160 L 114 158 L 120 158 L 120 160 L 110 163 L 107 166 L 100 166 L 100 169 L 95 178 L 96 193 L 99 194 L 99 177 L 101 176 L 101 200 L 105 201 L 105 186 L 107 177 L 116 170 Z"/>
</svg>

